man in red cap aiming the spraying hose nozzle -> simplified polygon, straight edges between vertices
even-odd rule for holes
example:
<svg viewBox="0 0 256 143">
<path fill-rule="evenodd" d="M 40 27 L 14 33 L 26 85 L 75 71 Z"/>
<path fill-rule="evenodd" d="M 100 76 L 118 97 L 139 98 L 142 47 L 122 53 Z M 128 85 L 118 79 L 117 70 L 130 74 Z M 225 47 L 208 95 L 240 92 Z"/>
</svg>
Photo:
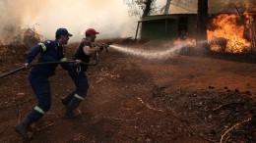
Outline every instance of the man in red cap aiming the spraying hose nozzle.
<svg viewBox="0 0 256 143">
<path fill-rule="evenodd" d="M 77 61 L 78 65 L 74 65 L 69 74 L 73 79 L 76 88 L 68 94 L 66 97 L 61 98 L 61 102 L 66 106 L 64 119 L 72 119 L 78 115 L 74 114 L 74 110 L 77 109 L 80 103 L 87 96 L 89 89 L 88 78 L 85 73 L 87 71 L 87 65 L 79 65 L 79 63 L 89 63 L 91 58 L 96 56 L 97 52 L 100 52 L 102 48 L 94 46 L 96 40 L 96 34 L 98 34 L 94 28 L 88 28 L 85 32 L 86 38 L 83 38 L 77 50 L 73 56 L 73 60 Z"/>
</svg>

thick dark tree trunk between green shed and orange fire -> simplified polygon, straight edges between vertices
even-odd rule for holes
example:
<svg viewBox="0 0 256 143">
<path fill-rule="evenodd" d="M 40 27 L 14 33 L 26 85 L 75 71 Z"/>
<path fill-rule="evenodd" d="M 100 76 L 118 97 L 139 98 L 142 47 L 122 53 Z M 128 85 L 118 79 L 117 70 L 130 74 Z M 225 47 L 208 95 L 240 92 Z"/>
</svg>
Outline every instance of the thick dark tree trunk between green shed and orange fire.
<svg viewBox="0 0 256 143">
<path fill-rule="evenodd" d="M 207 43 L 208 0 L 198 0 L 197 47 L 208 49 Z"/>
</svg>

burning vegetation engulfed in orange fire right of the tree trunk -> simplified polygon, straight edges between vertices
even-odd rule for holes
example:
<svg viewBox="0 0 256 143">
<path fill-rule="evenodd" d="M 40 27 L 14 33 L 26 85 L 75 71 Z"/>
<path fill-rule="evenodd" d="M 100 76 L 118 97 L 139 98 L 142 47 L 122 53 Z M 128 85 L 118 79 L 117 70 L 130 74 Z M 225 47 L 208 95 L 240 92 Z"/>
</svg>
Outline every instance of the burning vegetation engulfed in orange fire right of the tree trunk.
<svg viewBox="0 0 256 143">
<path fill-rule="evenodd" d="M 207 30 L 211 50 L 227 53 L 251 51 L 252 22 L 248 14 L 241 18 L 234 14 L 221 14 L 213 19 Z"/>
</svg>

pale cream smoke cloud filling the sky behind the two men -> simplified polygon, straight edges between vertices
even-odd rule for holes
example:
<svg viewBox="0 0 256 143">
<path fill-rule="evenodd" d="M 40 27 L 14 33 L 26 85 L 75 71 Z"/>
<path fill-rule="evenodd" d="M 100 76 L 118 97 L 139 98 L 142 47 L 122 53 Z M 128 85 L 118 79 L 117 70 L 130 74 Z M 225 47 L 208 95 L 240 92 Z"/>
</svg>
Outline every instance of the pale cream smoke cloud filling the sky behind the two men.
<svg viewBox="0 0 256 143">
<path fill-rule="evenodd" d="M 58 27 L 66 27 L 74 35 L 70 41 L 80 41 L 89 27 L 99 31 L 97 38 L 134 36 L 138 21 L 128 17 L 122 0 L 0 0 L 0 10 L 0 29 L 10 24 L 34 25 L 39 34 L 51 39 Z"/>
</svg>

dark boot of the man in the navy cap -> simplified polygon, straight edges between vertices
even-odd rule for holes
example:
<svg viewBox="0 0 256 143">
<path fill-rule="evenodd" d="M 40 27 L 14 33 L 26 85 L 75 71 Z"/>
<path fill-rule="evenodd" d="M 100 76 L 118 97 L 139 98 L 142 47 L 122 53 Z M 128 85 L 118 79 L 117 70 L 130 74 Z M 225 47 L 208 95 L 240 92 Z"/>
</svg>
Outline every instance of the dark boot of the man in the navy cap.
<svg viewBox="0 0 256 143">
<path fill-rule="evenodd" d="M 25 139 L 29 139 L 28 131 L 30 129 L 31 120 L 26 118 L 19 124 L 15 125 L 16 131 L 19 132 Z"/>
</svg>

